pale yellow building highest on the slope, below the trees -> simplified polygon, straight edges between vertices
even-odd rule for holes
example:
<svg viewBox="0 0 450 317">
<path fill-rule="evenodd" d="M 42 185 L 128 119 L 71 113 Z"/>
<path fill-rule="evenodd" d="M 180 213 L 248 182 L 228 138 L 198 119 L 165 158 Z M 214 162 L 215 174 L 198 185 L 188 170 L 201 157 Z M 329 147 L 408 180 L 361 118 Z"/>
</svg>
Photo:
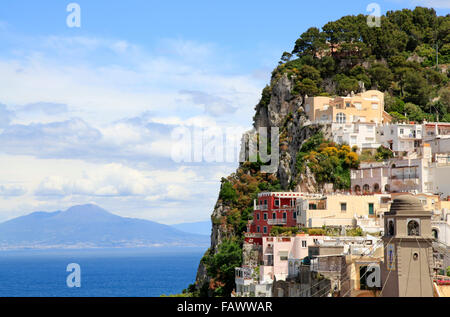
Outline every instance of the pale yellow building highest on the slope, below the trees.
<svg viewBox="0 0 450 317">
<path fill-rule="evenodd" d="M 347 97 L 306 97 L 305 112 L 313 122 L 388 123 L 391 117 L 384 111 L 384 94 L 368 90 Z"/>
</svg>

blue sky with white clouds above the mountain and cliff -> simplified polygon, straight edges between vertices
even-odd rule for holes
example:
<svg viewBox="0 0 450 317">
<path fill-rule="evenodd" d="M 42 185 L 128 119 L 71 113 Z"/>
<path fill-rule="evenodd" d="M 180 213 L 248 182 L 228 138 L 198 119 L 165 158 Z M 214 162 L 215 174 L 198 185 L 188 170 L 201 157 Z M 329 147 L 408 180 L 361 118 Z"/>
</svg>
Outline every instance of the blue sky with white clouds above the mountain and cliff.
<svg viewBox="0 0 450 317">
<path fill-rule="evenodd" d="M 80 27 L 67 24 L 72 2 Z M 208 220 L 238 163 L 195 147 L 198 161 L 174 159 L 175 132 L 239 142 L 298 36 L 369 14 L 371 2 L 2 1 L 0 222 L 85 203 L 166 224 Z M 382 14 L 450 9 L 376 3 Z"/>
</svg>

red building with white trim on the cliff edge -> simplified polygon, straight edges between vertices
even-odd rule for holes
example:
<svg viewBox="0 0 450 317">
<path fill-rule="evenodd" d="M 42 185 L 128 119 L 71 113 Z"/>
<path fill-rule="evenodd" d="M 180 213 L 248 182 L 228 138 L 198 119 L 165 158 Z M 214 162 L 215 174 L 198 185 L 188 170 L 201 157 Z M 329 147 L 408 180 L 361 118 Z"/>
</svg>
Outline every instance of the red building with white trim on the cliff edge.
<svg viewBox="0 0 450 317">
<path fill-rule="evenodd" d="M 295 203 L 302 196 L 302 193 L 292 192 L 259 193 L 254 202 L 253 220 L 249 221 L 247 231 L 268 236 L 272 226 L 297 226 Z"/>
</svg>

